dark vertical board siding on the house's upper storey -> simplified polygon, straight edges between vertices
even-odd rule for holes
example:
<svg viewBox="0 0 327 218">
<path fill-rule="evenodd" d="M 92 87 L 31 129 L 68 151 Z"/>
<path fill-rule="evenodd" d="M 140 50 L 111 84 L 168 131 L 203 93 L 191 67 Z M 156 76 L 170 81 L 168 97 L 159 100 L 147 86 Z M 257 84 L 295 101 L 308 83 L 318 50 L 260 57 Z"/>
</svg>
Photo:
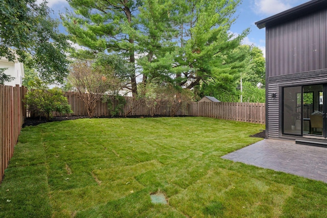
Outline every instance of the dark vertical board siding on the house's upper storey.
<svg viewBox="0 0 327 218">
<path fill-rule="evenodd" d="M 268 77 L 327 68 L 327 9 L 267 27 Z"/>
</svg>

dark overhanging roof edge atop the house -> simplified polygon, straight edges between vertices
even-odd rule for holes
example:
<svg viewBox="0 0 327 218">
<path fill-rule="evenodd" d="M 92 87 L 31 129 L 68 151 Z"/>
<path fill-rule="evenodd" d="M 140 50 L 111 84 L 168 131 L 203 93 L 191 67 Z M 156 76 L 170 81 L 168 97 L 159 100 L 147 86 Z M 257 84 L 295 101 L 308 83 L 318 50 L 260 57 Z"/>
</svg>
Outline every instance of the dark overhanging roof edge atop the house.
<svg viewBox="0 0 327 218">
<path fill-rule="evenodd" d="M 278 25 L 279 23 L 285 22 L 285 20 L 290 20 L 310 14 L 312 12 L 327 8 L 326 0 L 313 0 L 302 5 L 296 6 L 289 10 L 283 11 L 281 13 L 275 14 L 258 22 L 255 22 L 255 25 L 259 28 L 265 28 L 270 26 Z"/>
</svg>

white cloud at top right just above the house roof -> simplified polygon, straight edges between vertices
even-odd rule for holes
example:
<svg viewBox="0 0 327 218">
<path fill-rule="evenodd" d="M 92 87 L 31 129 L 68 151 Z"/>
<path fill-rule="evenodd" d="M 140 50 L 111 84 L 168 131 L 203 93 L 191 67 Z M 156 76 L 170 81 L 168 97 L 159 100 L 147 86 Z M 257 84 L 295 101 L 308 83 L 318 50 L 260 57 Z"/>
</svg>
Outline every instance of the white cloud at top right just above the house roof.
<svg viewBox="0 0 327 218">
<path fill-rule="evenodd" d="M 292 8 L 290 0 L 255 0 L 255 11 L 257 13 L 272 15 Z"/>
</svg>

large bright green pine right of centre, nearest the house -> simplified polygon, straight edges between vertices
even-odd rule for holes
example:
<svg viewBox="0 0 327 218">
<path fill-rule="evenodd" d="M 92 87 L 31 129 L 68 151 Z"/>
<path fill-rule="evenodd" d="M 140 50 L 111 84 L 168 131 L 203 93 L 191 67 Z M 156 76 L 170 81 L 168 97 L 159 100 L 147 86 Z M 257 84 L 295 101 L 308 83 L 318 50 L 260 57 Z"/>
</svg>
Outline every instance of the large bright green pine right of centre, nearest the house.
<svg viewBox="0 0 327 218">
<path fill-rule="evenodd" d="M 230 33 L 232 18 L 240 1 L 180 1 L 178 23 L 180 49 L 176 56 L 176 77 L 188 89 L 208 81 L 234 78 L 241 58 L 234 50 L 246 36 Z M 217 81 L 219 80 L 219 81 Z"/>
</svg>

